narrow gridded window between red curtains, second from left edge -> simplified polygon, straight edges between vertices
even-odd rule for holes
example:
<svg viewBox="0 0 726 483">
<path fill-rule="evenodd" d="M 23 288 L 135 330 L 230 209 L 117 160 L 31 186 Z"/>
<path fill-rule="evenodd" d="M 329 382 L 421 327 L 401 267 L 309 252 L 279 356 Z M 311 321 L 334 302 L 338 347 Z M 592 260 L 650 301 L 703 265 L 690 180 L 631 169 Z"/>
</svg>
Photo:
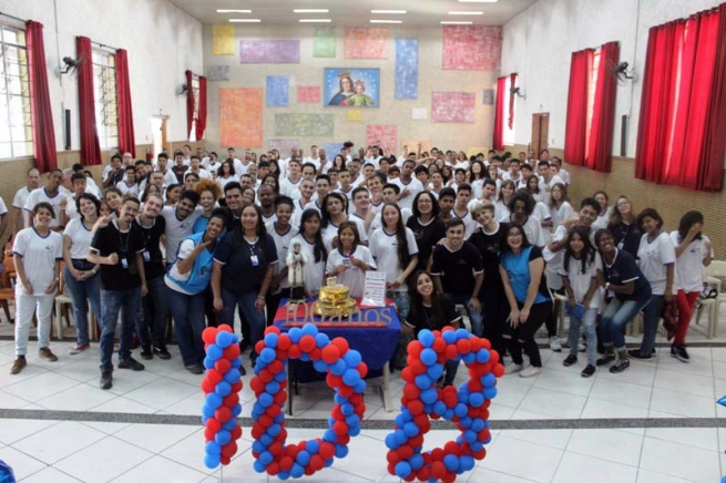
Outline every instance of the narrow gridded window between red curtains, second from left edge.
<svg viewBox="0 0 726 483">
<path fill-rule="evenodd" d="M 119 148 L 119 100 L 116 97 L 116 55 L 93 49 L 95 130 L 101 151 Z"/>
</svg>

